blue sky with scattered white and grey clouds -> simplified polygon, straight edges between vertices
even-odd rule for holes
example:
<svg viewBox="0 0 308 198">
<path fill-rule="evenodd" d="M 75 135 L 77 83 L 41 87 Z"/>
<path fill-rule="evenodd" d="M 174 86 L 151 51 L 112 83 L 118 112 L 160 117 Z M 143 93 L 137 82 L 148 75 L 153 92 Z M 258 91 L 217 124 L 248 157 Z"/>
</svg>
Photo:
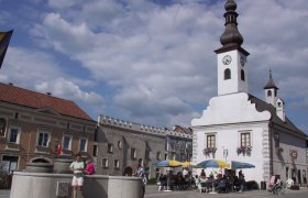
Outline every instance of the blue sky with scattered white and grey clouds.
<svg viewBox="0 0 308 198">
<path fill-rule="evenodd" d="M 13 29 L 1 82 L 73 100 L 94 120 L 189 127 L 217 96 L 226 0 L 0 0 Z M 270 69 L 287 117 L 308 133 L 307 0 L 237 0 L 249 92 Z"/>
</svg>

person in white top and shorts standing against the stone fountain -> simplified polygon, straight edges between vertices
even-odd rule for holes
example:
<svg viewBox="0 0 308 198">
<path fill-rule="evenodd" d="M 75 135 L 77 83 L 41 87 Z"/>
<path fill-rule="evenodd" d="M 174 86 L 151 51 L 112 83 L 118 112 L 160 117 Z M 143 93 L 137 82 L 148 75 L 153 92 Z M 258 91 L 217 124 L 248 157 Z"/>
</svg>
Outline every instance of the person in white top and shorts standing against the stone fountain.
<svg viewBox="0 0 308 198">
<path fill-rule="evenodd" d="M 77 190 L 79 190 L 82 198 L 85 198 L 82 189 L 85 163 L 81 161 L 81 155 L 79 153 L 76 154 L 76 161 L 70 164 L 69 168 L 74 174 L 72 180 L 73 198 L 77 198 Z"/>
</svg>

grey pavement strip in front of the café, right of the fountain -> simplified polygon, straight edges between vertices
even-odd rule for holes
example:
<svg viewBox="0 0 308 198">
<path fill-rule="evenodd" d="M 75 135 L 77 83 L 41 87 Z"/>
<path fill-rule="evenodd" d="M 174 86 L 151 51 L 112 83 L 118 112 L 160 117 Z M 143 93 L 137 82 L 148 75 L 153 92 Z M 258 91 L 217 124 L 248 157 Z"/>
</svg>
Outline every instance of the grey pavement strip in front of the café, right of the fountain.
<svg viewBox="0 0 308 198">
<path fill-rule="evenodd" d="M 158 191 L 157 186 L 146 186 L 146 193 L 144 198 L 228 198 L 228 197 L 240 197 L 240 198 L 307 198 L 308 188 L 300 188 L 300 190 L 288 190 L 286 189 L 283 195 L 276 196 L 267 190 L 250 190 L 243 193 L 229 193 L 229 194 L 205 194 L 198 190 L 180 190 L 180 191 Z"/>
</svg>

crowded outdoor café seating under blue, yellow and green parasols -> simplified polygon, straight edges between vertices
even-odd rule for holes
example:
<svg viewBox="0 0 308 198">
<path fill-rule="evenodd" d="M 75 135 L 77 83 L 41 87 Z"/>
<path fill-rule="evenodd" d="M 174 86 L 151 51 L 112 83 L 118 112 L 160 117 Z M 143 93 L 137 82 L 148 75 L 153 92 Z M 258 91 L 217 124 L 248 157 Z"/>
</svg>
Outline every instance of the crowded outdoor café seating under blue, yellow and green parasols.
<svg viewBox="0 0 308 198">
<path fill-rule="evenodd" d="M 232 161 L 228 164 L 219 160 L 204 161 L 198 164 L 166 160 L 158 162 L 155 166 L 165 170 L 157 177 L 158 190 L 198 189 L 200 193 L 209 194 L 243 191 L 245 180 L 242 169 L 255 167 L 244 162 Z M 210 174 L 207 175 L 205 170 Z M 237 176 L 237 170 L 239 170 L 239 176 Z"/>
</svg>

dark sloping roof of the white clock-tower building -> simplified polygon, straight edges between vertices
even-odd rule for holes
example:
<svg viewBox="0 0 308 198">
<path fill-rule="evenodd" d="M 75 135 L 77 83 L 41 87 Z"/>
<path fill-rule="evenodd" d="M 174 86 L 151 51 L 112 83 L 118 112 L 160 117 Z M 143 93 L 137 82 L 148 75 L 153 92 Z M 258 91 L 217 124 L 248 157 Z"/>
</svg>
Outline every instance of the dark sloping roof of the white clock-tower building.
<svg viewBox="0 0 308 198">
<path fill-rule="evenodd" d="M 287 117 L 286 117 L 285 122 L 282 119 L 279 119 L 279 117 L 276 113 L 276 109 L 272 105 L 270 105 L 270 103 L 267 103 L 267 102 L 265 102 L 265 101 L 263 101 L 263 100 L 261 100 L 261 99 L 258 99 L 258 98 L 256 98 L 252 95 L 249 95 L 249 96 L 250 96 L 249 99 L 253 103 L 255 103 L 255 107 L 256 107 L 257 111 L 262 112 L 262 111 L 267 110 L 267 111 L 271 112 L 271 114 L 272 114 L 271 122 L 272 123 L 280 125 L 283 128 L 286 128 L 289 131 L 293 131 L 294 133 L 297 133 L 299 135 L 305 135 L 306 138 L 308 136 L 306 133 L 300 131 Z"/>
</svg>

